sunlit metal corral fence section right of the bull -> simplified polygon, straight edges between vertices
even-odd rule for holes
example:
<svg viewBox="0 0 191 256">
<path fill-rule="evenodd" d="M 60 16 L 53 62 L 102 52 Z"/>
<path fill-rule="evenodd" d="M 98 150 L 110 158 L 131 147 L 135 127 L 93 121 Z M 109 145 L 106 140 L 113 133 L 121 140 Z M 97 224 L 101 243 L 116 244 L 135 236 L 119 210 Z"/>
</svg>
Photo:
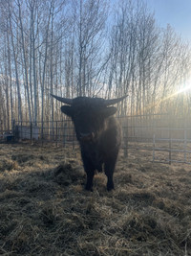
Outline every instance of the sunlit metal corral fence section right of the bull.
<svg viewBox="0 0 191 256">
<path fill-rule="evenodd" d="M 153 162 L 191 164 L 191 119 L 170 114 L 121 118 L 123 151 L 142 151 Z"/>
</svg>

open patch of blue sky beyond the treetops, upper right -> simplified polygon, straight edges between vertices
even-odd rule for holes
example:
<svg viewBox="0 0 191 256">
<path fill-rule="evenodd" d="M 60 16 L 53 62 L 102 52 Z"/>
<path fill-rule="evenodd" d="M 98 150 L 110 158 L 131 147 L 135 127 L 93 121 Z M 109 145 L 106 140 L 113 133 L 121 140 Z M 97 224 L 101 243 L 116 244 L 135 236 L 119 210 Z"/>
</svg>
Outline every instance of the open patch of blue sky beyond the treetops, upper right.
<svg viewBox="0 0 191 256">
<path fill-rule="evenodd" d="M 155 11 L 160 27 L 170 24 L 177 34 L 191 43 L 191 0 L 145 0 Z"/>
</svg>

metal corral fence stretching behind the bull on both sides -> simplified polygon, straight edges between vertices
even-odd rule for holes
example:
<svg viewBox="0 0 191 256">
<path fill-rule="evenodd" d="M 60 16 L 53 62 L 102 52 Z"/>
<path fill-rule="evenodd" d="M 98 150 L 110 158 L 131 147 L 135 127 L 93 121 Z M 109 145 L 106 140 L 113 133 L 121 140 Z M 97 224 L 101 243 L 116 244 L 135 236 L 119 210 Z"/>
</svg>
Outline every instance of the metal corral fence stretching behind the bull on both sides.
<svg viewBox="0 0 191 256">
<path fill-rule="evenodd" d="M 187 116 L 151 114 L 117 117 L 122 127 L 124 157 L 134 151 L 147 154 L 150 161 L 191 164 L 191 120 Z M 56 146 L 77 145 L 71 119 L 63 121 L 12 122 L 12 130 L 2 133 L 7 142 L 38 142 L 42 146 L 53 142 Z"/>
</svg>

